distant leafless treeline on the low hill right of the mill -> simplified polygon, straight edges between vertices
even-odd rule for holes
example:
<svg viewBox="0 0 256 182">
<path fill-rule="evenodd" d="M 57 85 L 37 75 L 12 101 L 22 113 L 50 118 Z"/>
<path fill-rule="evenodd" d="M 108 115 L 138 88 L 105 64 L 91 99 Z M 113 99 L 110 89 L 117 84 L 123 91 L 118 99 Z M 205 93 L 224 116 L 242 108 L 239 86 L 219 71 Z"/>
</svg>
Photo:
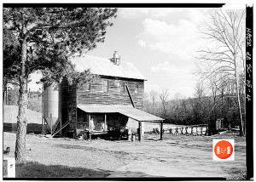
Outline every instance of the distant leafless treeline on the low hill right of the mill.
<svg viewBox="0 0 256 182">
<path fill-rule="evenodd" d="M 224 119 L 224 127 L 240 126 L 240 115 L 236 94 L 216 94 L 214 96 L 200 96 L 195 98 L 176 98 L 166 102 L 155 101 L 160 94 L 154 91 L 145 94 L 144 111 L 166 119 L 167 123 L 193 125 L 209 124 L 214 127 L 218 118 Z M 163 104 L 164 103 L 164 104 Z M 165 105 L 165 106 L 164 106 Z M 244 119 L 244 100 L 241 98 L 241 111 Z"/>
</svg>

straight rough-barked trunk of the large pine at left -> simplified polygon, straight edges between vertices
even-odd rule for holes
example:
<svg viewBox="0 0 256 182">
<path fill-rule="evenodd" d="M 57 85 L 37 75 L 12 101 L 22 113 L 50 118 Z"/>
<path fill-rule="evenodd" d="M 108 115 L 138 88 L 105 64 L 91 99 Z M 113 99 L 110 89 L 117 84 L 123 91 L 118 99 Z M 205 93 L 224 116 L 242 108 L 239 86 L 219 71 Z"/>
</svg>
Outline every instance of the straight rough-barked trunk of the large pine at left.
<svg viewBox="0 0 256 182">
<path fill-rule="evenodd" d="M 27 116 L 27 74 L 26 74 L 26 41 L 21 43 L 21 62 L 20 62 L 20 96 L 19 112 L 17 117 L 17 134 L 15 145 L 16 162 L 25 160 L 26 154 L 26 116 Z"/>
</svg>

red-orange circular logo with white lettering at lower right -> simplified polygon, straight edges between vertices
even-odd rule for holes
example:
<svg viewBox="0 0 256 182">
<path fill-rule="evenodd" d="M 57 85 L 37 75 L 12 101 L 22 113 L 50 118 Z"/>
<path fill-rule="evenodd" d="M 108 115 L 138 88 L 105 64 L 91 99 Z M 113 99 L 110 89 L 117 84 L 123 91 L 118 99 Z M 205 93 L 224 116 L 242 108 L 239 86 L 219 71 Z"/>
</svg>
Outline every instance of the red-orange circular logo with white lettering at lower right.
<svg viewBox="0 0 256 182">
<path fill-rule="evenodd" d="M 233 146 L 227 140 L 221 140 L 215 145 L 214 153 L 220 159 L 227 159 L 232 156 Z"/>
</svg>

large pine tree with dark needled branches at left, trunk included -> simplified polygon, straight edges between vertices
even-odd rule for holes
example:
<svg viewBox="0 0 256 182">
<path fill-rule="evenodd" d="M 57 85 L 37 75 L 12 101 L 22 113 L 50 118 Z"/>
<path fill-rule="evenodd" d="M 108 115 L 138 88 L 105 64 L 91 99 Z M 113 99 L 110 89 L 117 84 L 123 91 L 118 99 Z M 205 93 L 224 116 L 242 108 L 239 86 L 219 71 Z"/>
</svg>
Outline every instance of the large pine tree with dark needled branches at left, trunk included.
<svg viewBox="0 0 256 182">
<path fill-rule="evenodd" d="M 77 52 L 96 48 L 96 43 L 103 43 L 106 28 L 113 25 L 110 19 L 116 17 L 116 12 L 117 9 L 100 8 L 3 9 L 4 37 L 10 37 L 8 34 L 15 36 L 18 43 L 5 48 L 7 54 L 15 48 L 15 60 L 7 59 L 7 54 L 4 54 L 3 59 L 4 65 L 12 68 L 16 65 L 14 75 L 19 82 L 15 145 L 17 162 L 25 160 L 29 75 L 34 71 L 42 71 L 42 82 L 45 84 L 60 82 L 64 76 L 70 82 L 88 76 L 89 71 L 74 71 L 69 57 Z"/>
</svg>

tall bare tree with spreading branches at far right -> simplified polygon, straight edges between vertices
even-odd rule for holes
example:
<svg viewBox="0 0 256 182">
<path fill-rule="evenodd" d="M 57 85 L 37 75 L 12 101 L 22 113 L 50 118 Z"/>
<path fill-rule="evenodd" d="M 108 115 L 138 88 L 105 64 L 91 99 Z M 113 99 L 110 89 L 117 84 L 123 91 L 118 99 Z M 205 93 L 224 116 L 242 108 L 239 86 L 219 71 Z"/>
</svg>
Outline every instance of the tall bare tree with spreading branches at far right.
<svg viewBox="0 0 256 182">
<path fill-rule="evenodd" d="M 215 77 L 218 87 L 234 82 L 236 99 L 241 121 L 241 134 L 244 134 L 241 115 L 241 95 L 239 75 L 244 74 L 245 63 L 245 11 L 214 9 L 209 20 L 202 26 L 203 38 L 207 46 L 198 51 L 197 65 L 202 79 Z"/>
</svg>

